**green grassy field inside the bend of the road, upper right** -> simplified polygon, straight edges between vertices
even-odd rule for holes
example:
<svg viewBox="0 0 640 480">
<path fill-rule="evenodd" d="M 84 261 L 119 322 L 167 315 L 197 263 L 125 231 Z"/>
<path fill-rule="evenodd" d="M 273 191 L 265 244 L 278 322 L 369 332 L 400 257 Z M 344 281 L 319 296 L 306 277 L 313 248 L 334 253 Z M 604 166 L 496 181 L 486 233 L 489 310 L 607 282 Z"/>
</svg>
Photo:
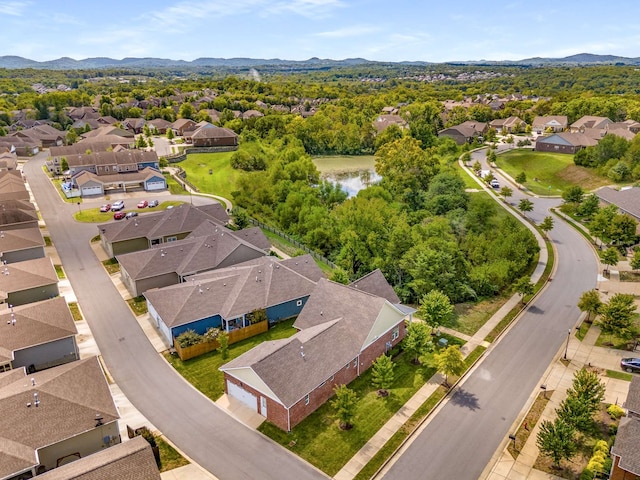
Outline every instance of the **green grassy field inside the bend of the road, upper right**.
<svg viewBox="0 0 640 480">
<path fill-rule="evenodd" d="M 538 195 L 560 195 L 573 185 L 593 190 L 611 183 L 591 169 L 576 166 L 573 155 L 563 153 L 511 150 L 498 155 L 496 165 L 514 178 L 525 172 L 524 186 Z"/>
</svg>

